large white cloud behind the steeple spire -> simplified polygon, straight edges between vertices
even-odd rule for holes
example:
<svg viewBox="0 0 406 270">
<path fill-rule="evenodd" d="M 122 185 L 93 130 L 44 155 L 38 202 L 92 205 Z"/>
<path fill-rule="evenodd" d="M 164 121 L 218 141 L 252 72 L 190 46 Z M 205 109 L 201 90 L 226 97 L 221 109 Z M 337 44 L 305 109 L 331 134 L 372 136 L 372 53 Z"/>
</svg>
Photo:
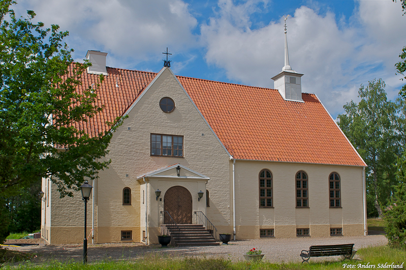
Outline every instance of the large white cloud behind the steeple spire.
<svg viewBox="0 0 406 270">
<path fill-rule="evenodd" d="M 284 66 L 283 18 L 251 29 L 247 18 L 254 8 L 227 0 L 218 6 L 221 12 L 201 26 L 207 62 L 224 68 L 230 79 L 273 87 L 269 78 Z M 401 14 L 400 4 L 390 0 L 360 1 L 350 23 L 340 19 L 338 25 L 331 12 L 296 9 L 287 21 L 288 45 L 290 66 L 304 73 L 302 91 L 316 93 L 334 117 L 342 105 L 357 99 L 360 84 L 373 78 L 390 80 L 387 92 L 393 99 L 394 87 L 400 87 L 400 82 L 393 83 L 394 64 L 406 45 L 406 18 Z"/>
</svg>

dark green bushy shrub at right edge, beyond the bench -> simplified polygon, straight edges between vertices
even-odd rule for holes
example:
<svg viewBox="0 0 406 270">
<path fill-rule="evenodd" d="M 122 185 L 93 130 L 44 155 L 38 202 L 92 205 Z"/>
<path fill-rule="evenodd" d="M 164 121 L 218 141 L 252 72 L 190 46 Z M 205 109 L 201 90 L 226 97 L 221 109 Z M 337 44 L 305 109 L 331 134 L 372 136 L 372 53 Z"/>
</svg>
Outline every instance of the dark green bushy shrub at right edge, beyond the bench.
<svg viewBox="0 0 406 270">
<path fill-rule="evenodd" d="M 396 186 L 392 205 L 385 213 L 386 237 L 394 248 L 406 249 L 406 155 L 397 159 Z"/>
</svg>

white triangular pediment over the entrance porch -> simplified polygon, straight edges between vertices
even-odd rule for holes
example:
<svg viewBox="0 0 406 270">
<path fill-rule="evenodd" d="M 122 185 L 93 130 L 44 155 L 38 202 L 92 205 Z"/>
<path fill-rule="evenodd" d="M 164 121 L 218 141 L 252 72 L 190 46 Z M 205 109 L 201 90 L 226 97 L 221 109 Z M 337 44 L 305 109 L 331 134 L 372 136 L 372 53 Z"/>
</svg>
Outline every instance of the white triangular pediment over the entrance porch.
<svg viewBox="0 0 406 270">
<path fill-rule="evenodd" d="M 177 167 L 179 166 L 179 176 L 177 174 Z M 199 173 L 197 171 L 194 171 L 186 166 L 183 166 L 179 163 L 174 164 L 172 166 L 159 169 L 156 171 L 148 172 L 145 175 L 139 176 L 137 178 L 138 181 L 142 181 L 143 178 L 169 178 L 171 180 L 177 179 L 177 180 L 202 180 L 202 181 L 208 181 L 210 177 L 207 177 L 206 175 Z"/>
</svg>

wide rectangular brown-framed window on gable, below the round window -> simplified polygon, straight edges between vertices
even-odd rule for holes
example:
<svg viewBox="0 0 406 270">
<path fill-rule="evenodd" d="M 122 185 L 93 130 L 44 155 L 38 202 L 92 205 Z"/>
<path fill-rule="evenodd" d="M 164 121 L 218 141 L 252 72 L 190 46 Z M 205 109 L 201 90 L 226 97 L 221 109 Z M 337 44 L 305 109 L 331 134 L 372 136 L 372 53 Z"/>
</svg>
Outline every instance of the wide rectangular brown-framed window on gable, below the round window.
<svg viewBox="0 0 406 270">
<path fill-rule="evenodd" d="M 183 136 L 151 134 L 151 156 L 183 157 Z"/>
</svg>

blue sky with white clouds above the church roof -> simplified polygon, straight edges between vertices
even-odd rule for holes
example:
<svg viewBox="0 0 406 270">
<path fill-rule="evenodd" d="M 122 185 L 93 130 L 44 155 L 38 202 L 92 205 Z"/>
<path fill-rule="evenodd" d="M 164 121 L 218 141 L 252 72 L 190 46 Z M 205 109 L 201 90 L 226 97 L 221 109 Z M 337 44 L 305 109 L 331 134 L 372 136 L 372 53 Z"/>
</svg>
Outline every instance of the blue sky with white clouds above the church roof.
<svg viewBox="0 0 406 270">
<path fill-rule="evenodd" d="M 159 72 L 168 47 L 176 75 L 269 88 L 289 15 L 290 66 L 334 118 L 360 84 L 382 78 L 394 100 L 404 83 L 394 68 L 406 45 L 399 1 L 22 0 L 14 10 L 69 31 L 76 61 L 101 50 L 109 67 Z"/>
</svg>

